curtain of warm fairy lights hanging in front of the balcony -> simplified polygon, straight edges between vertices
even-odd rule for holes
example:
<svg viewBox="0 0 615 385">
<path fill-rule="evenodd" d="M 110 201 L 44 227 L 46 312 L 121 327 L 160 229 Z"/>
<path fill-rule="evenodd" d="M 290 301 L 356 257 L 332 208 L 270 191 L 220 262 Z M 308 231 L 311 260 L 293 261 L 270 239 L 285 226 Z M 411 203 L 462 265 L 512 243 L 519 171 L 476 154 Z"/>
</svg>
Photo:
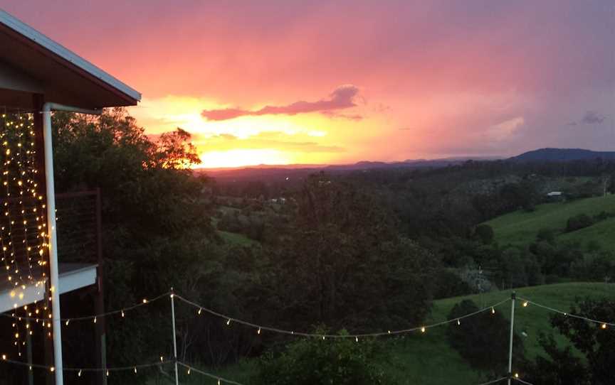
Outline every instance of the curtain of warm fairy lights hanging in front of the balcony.
<svg viewBox="0 0 615 385">
<path fill-rule="evenodd" d="M 23 303 L 28 286 L 38 288 L 38 295 L 44 290 L 46 273 L 43 266 L 46 265 L 48 242 L 45 216 L 39 205 L 45 207 L 45 201 L 36 191 L 38 169 L 33 116 L 5 112 L 0 115 L 0 124 L 0 191 L 3 195 L 0 200 L 0 259 L 6 273 L 2 278 L 11 287 L 11 315 L 16 319 L 12 323 L 11 336 L 16 354 L 21 357 L 28 335 L 33 335 L 34 324 L 26 318 L 40 314 L 38 318 L 42 321 L 43 334 L 51 337 L 48 322 L 51 306 L 47 296 L 43 294 L 43 300 L 36 300 L 33 304 Z M 36 269 L 33 268 L 34 262 Z M 50 331 L 45 333 L 45 328 Z"/>
</svg>

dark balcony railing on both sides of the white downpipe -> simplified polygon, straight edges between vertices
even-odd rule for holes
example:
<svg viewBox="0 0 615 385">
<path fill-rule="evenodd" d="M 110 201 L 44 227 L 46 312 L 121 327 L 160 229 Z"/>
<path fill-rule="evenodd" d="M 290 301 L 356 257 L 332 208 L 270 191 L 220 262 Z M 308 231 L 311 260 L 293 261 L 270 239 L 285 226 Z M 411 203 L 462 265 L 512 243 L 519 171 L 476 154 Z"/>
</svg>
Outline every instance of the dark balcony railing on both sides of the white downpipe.
<svg viewBox="0 0 615 385">
<path fill-rule="evenodd" d="M 34 197 L 1 200 L 0 291 L 31 285 L 47 275 L 46 208 Z M 61 273 L 102 266 L 100 191 L 56 195 L 58 262 Z M 42 248 L 42 251 L 41 251 Z M 43 276 L 44 274 L 44 276 Z M 10 279 L 9 279 L 10 277 Z"/>
</svg>

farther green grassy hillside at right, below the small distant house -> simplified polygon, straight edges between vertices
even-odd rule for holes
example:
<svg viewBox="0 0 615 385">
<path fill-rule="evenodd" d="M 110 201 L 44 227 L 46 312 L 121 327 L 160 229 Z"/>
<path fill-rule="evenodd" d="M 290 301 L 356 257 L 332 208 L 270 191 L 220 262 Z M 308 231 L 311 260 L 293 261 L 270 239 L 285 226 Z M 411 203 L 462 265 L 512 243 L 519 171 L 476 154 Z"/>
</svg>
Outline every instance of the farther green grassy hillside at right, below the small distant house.
<svg viewBox="0 0 615 385">
<path fill-rule="evenodd" d="M 597 222 L 591 227 L 576 232 L 563 233 L 569 217 L 602 211 L 615 211 L 615 195 L 592 197 L 572 202 L 554 202 L 537 205 L 533 212 L 517 211 L 491 219 L 486 224 L 493 227 L 495 240 L 500 244 L 528 244 L 536 239 L 540 229 L 552 229 L 560 240 L 586 243 L 596 241 L 605 249 L 615 249 L 615 218 Z"/>
</svg>

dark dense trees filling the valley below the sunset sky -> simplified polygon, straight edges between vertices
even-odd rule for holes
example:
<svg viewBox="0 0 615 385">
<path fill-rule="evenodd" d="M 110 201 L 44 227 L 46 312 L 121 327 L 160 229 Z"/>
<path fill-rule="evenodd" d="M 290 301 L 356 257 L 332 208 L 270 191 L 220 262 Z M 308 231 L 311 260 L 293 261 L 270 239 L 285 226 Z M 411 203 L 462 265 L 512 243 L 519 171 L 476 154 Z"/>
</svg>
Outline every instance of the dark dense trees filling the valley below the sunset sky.
<svg viewBox="0 0 615 385">
<path fill-rule="evenodd" d="M 421 325 L 436 298 L 542 283 L 605 281 L 615 275 L 615 250 L 562 242 L 553 229 L 540 229 L 529 244 L 500 244 L 485 224 L 506 213 L 541 210 L 551 199 L 547 193 L 554 190 L 561 190 L 567 202 L 614 193 L 613 161 L 467 161 L 441 168 L 319 172 L 287 184 L 221 183 L 187 168 L 198 156 L 181 129 L 150 139 L 123 109 L 108 110 L 100 118 L 58 112 L 53 120 L 58 192 L 102 191 L 108 310 L 173 287 L 196 303 L 258 325 L 360 333 Z M 615 207 L 572 217 L 562 231 L 613 216 Z M 93 313 L 78 295 L 65 297 L 63 312 Z M 614 316 L 612 303 L 580 305 L 586 313 Z M 170 355 L 168 307 L 162 301 L 130 318 L 109 318 L 109 365 Z M 610 310 L 601 310 L 606 308 Z M 460 303 L 451 317 L 475 309 L 473 303 Z M 263 357 L 256 381 L 289 384 L 280 375 L 301 378 L 292 365 L 296 357 L 314 359 L 305 363 L 305 371 L 310 371 L 310 365 L 317 367 L 331 354 L 344 352 L 357 377 L 344 374 L 345 380 L 337 383 L 393 383 L 378 367 L 366 364 L 370 354 L 382 354 L 377 342 L 360 351 L 340 342 L 323 352 L 310 341 L 287 345 L 290 339 L 196 317 L 192 308 L 178 308 L 177 320 L 182 361 L 221 367 Z M 500 321 L 498 330 L 493 322 L 491 329 L 479 330 L 506 332 L 506 322 Z M 572 362 L 570 370 L 586 381 L 575 384 L 607 384 L 612 374 L 605 374 L 604 367 L 615 363 L 614 350 L 607 352 L 612 333 L 611 340 L 596 342 L 601 346 L 597 352 L 596 345 L 585 346 L 575 337 L 574 328 L 583 325 L 560 318 L 553 324 L 587 350 L 588 357 L 601 357 L 601 364 L 594 368 L 594 360 L 584 362 L 560 351 L 545 336 L 545 349 L 552 355 L 528 361 L 528 373 L 546 376 L 545 368 L 566 359 Z M 74 353 L 65 357 L 67 366 L 92 365 L 91 349 L 80 337 L 91 333 L 91 327 L 75 325 L 65 332 L 66 346 Z M 458 332 L 451 331 L 456 349 L 487 343 L 453 338 Z M 483 352 L 491 348 L 485 346 Z M 489 354 L 469 357 L 476 367 L 489 367 L 493 359 Z M 140 373 L 136 378 L 130 374 L 132 383 L 149 377 Z M 310 381 L 320 379 L 305 377 L 298 383 Z"/>
</svg>

